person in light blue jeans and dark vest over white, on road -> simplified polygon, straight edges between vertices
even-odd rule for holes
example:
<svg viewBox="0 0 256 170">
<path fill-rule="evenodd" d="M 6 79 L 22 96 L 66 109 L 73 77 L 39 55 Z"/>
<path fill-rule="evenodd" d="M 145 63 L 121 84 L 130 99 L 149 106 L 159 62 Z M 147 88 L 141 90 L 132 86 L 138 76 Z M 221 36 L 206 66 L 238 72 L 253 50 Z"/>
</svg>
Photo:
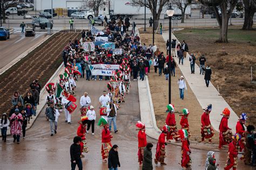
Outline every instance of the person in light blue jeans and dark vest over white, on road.
<svg viewBox="0 0 256 170">
<path fill-rule="evenodd" d="M 117 133 L 117 123 L 116 123 L 116 117 L 117 117 L 117 105 L 111 101 L 109 103 L 109 108 L 107 109 L 107 112 L 109 112 L 109 116 L 107 117 L 107 120 L 109 121 L 109 131 L 111 132 L 111 124 L 113 121 L 114 126 L 114 133 Z"/>
</svg>

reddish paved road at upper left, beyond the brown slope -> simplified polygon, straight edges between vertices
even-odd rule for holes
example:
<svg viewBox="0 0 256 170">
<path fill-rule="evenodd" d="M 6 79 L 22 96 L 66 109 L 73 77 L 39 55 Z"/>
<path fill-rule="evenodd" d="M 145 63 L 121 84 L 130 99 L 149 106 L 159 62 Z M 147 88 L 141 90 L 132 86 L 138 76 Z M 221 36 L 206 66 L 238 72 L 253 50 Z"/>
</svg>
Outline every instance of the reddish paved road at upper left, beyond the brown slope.
<svg viewBox="0 0 256 170">
<path fill-rule="evenodd" d="M 8 40 L 0 40 L 0 69 L 17 58 L 26 50 L 45 37 L 45 33 L 37 33 L 35 37 L 25 37 L 24 34 L 14 33 Z"/>
</svg>

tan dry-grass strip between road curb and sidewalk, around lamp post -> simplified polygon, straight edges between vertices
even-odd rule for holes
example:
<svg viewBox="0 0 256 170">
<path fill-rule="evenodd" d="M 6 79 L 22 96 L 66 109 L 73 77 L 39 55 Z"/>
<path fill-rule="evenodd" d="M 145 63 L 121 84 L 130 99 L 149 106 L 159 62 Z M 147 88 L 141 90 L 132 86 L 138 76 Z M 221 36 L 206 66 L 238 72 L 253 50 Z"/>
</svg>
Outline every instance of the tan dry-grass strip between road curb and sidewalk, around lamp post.
<svg viewBox="0 0 256 170">
<path fill-rule="evenodd" d="M 152 44 L 152 31 L 149 31 L 149 29 L 147 29 L 147 32 L 144 33 L 143 30 L 140 30 L 140 39 L 142 44 L 145 43 L 147 46 L 149 46 L 150 44 Z M 166 42 L 164 41 L 163 37 L 159 34 L 155 35 L 154 43 L 157 45 L 160 51 L 164 52 L 164 56 L 166 57 Z M 178 67 L 178 63 L 176 64 L 176 76 L 171 78 L 171 101 L 172 104 L 174 104 L 177 113 L 177 128 L 181 128 L 179 124 L 181 117 L 179 116 L 179 114 L 181 113 L 183 108 L 187 108 L 190 111 L 190 115 L 188 117 L 188 124 L 190 125 L 191 132 L 190 139 L 200 141 L 201 114 L 203 113 L 203 110 L 188 84 L 187 91 L 185 91 L 184 100 L 180 99 L 177 81 L 182 74 Z M 157 73 L 154 73 L 153 66 L 151 66 L 148 78 L 154 106 L 154 114 L 156 115 L 157 120 L 157 126 L 159 128 L 162 128 L 165 125 L 165 119 L 167 116 L 167 113 L 165 111 L 166 105 L 169 102 L 169 81 L 165 80 L 165 76 L 163 73 L 162 76 L 158 76 L 158 71 Z M 215 131 L 213 142 L 218 142 L 218 136 L 218 132 Z"/>
</svg>

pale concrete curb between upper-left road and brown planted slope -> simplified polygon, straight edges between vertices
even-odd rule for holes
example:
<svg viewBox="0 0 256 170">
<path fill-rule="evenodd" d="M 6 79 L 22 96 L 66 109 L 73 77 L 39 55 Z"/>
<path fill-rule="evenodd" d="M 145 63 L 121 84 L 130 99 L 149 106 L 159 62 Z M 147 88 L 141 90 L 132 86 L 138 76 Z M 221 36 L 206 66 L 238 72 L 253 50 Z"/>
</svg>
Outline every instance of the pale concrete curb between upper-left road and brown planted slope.
<svg viewBox="0 0 256 170">
<path fill-rule="evenodd" d="M 60 31 L 60 30 L 59 30 Z M 57 31 L 57 32 L 59 32 Z M 9 64 L 5 65 L 2 69 L 0 69 L 0 75 L 2 75 L 5 71 L 10 69 L 10 67 L 14 66 L 16 63 L 18 63 L 21 59 L 26 57 L 31 51 L 35 50 L 38 46 L 42 45 L 46 40 L 51 38 L 53 35 L 55 35 L 57 32 L 53 33 L 51 36 L 46 37 L 41 43 L 37 43 L 36 45 L 30 47 L 28 50 L 23 52 L 21 55 L 19 55 L 16 59 L 12 60 Z"/>
</svg>

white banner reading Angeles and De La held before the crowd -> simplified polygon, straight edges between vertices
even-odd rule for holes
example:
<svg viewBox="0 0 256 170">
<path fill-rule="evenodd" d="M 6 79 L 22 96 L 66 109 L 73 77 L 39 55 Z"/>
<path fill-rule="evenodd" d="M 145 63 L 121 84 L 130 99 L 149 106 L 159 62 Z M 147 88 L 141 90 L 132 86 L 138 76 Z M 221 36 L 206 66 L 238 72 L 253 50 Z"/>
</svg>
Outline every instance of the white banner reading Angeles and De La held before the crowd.
<svg viewBox="0 0 256 170">
<path fill-rule="evenodd" d="M 119 69 L 119 65 L 110 64 L 93 64 L 90 65 L 92 76 L 114 76 L 116 70 Z"/>
</svg>

